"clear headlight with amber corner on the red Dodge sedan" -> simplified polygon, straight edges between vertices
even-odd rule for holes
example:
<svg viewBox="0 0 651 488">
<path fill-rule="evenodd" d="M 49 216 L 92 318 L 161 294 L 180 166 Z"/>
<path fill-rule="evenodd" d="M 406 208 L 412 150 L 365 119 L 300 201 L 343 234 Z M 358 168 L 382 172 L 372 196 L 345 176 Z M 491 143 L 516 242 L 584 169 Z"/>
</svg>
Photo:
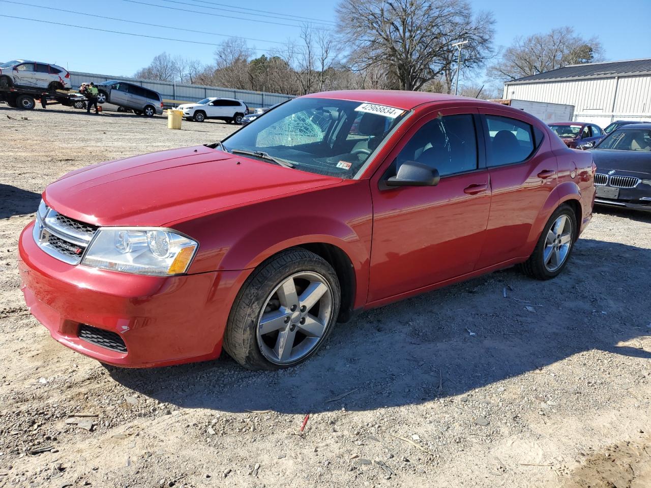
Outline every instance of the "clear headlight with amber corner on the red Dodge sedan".
<svg viewBox="0 0 651 488">
<path fill-rule="evenodd" d="M 81 263 L 138 275 L 178 275 L 187 271 L 197 247 L 168 229 L 100 228 Z"/>
</svg>

